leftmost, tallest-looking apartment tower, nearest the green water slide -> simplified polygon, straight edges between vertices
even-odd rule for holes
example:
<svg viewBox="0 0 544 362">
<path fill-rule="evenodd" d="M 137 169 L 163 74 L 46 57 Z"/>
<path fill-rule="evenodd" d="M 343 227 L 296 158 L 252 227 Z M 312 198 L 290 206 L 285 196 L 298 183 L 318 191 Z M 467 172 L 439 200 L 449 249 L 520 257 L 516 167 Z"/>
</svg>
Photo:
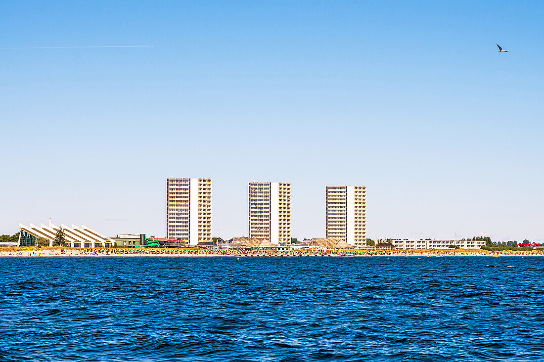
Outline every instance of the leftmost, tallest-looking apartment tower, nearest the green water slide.
<svg viewBox="0 0 544 362">
<path fill-rule="evenodd" d="M 166 238 L 212 240 L 211 179 L 166 179 Z"/>
</svg>

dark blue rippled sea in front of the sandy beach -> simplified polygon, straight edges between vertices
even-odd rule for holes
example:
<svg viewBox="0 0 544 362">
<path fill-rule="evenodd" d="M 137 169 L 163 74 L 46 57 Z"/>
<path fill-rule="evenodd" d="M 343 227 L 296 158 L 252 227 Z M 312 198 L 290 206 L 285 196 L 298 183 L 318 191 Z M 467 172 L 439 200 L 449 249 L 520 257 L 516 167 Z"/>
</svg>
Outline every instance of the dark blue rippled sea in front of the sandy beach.
<svg viewBox="0 0 544 362">
<path fill-rule="evenodd" d="M 544 257 L 3 257 L 1 361 L 542 361 Z"/>
</svg>

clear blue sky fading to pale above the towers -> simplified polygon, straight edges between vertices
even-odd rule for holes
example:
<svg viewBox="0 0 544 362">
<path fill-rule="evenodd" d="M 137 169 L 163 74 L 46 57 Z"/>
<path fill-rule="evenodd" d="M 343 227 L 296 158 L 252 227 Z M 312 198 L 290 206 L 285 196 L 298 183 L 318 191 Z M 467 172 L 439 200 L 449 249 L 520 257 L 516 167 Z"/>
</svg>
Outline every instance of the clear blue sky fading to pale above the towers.
<svg viewBox="0 0 544 362">
<path fill-rule="evenodd" d="M 544 2 L 0 1 L 0 234 L 165 235 L 166 177 L 367 186 L 371 238 L 544 241 Z M 495 45 L 508 53 L 498 53 Z"/>
</svg>

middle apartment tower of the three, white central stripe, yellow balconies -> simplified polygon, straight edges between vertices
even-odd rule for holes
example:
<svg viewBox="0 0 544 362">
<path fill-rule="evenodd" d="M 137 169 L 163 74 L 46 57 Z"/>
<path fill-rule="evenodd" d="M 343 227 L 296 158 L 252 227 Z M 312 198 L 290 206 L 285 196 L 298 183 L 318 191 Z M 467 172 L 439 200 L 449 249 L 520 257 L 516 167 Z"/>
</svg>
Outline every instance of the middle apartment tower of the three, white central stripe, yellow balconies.
<svg viewBox="0 0 544 362">
<path fill-rule="evenodd" d="M 249 237 L 267 238 L 273 244 L 291 242 L 291 184 L 250 182 L 248 187 Z"/>
</svg>

